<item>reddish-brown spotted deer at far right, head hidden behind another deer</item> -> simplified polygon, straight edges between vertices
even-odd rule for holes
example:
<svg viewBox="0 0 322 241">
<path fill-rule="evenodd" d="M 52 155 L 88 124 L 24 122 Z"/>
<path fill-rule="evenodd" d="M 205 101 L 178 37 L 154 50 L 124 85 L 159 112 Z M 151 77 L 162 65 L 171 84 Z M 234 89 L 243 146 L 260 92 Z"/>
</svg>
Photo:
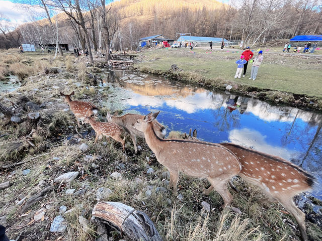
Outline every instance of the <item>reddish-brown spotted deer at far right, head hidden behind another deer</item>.
<svg viewBox="0 0 322 241">
<path fill-rule="evenodd" d="M 295 217 L 301 232 L 301 239 L 307 241 L 305 214 L 295 206 L 293 197 L 310 190 L 314 184 L 314 177 L 280 157 L 231 143 L 221 143 L 220 145 L 238 157 L 241 171 L 237 175 L 260 187 L 271 199 L 282 204 Z M 213 189 L 214 187 L 211 185 L 205 194 L 208 195 Z"/>
</svg>

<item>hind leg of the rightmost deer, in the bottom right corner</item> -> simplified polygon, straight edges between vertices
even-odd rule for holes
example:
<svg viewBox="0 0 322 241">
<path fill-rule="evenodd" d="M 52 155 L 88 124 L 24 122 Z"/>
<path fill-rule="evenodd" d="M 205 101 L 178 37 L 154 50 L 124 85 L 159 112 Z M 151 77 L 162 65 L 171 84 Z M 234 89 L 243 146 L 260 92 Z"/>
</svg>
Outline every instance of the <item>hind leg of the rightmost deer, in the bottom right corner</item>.
<svg viewBox="0 0 322 241">
<path fill-rule="evenodd" d="M 300 229 L 301 232 L 301 239 L 302 241 L 307 241 L 307 235 L 306 235 L 306 231 L 305 231 L 305 214 L 298 209 L 297 206 L 295 206 L 294 202 L 293 202 L 293 196 L 290 197 L 281 197 L 281 198 L 277 198 L 276 199 L 285 207 L 285 209 L 287 211 L 289 211 L 294 218 L 296 219 L 297 223 L 298 223 L 298 227 Z"/>
</svg>

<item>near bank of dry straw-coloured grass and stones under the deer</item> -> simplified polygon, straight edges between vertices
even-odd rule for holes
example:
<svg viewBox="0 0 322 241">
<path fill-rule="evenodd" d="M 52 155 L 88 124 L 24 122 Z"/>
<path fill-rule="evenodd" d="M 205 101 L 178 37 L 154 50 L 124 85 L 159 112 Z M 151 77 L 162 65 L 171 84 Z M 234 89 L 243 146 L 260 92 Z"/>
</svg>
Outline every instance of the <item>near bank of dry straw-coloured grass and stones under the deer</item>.
<svg viewBox="0 0 322 241">
<path fill-rule="evenodd" d="M 30 57 L 30 62 L 36 63 L 41 58 L 43 56 L 35 55 Z M 0 190 L 0 219 L 8 228 L 11 239 L 20 236 L 19 240 L 95 240 L 99 235 L 97 226 L 90 221 L 91 213 L 98 201 L 98 188 L 105 187 L 112 193 L 102 201 L 118 201 L 144 211 L 164 240 L 299 240 L 294 218 L 279 204 L 259 202 L 264 195 L 239 178 L 234 179 L 234 184 L 243 194 L 230 190 L 234 196 L 232 206 L 242 212 L 236 214 L 223 210 L 222 198 L 216 192 L 209 196 L 202 194 L 209 185 L 204 179 L 180 175 L 178 193 L 182 194 L 182 199 L 173 195 L 168 187 L 169 175 L 164 173 L 167 170 L 156 161 L 143 139 L 138 139 L 141 149 L 137 155 L 129 137 L 124 153 L 120 143 L 112 139 L 104 139 L 94 145 L 95 134 L 89 125 L 76 131 L 75 118 L 70 110 L 65 111 L 68 106 L 59 91 L 70 93 L 74 90 L 73 98 L 90 101 L 98 107 L 104 100 L 113 99 L 114 93 L 108 87 L 91 86 L 93 83 L 85 71 L 99 71 L 87 67 L 86 59 L 65 57 L 53 60 L 48 55 L 47 60 L 42 61 L 47 67 L 56 67 L 58 73 L 45 74 L 41 69 L 37 75 L 25 77 L 24 85 L 17 91 L 0 95 L 1 102 L 7 106 L 10 103 L 5 98 L 17 103 L 22 95 L 39 105 L 44 104 L 39 110 L 41 119 L 37 123 L 28 123 L 24 111 L 21 116 L 24 122 L 19 125 L 11 124 L 0 116 L 0 146 L 9 142 L 24 144 L 23 150 L 15 153 L 14 158 L 0 157 L 0 166 L 24 161 L 22 165 L 0 169 L 0 183 L 11 182 L 9 188 Z M 97 76 L 103 78 L 103 75 Z M 187 75 L 187 79 L 189 76 L 192 75 Z M 104 121 L 103 112 L 106 109 L 100 110 L 99 118 Z M 35 131 L 31 135 L 33 129 Z M 86 152 L 78 148 L 82 143 L 89 145 Z M 148 168 L 153 168 L 154 172 L 148 174 Z M 25 169 L 30 169 L 30 173 L 23 175 Z M 72 171 L 78 171 L 79 175 L 70 185 L 53 182 L 57 176 Z M 121 178 L 110 176 L 115 171 L 121 173 Z M 27 199 L 43 189 L 40 181 L 52 184 L 53 190 L 26 213 L 21 213 Z M 65 193 L 68 188 L 85 192 L 73 196 Z M 147 190 L 151 191 L 150 195 L 147 195 Z M 209 212 L 202 208 L 202 201 L 210 204 Z M 51 233 L 50 225 L 61 205 L 72 210 L 64 214 L 67 229 L 64 233 Z M 41 208 L 46 210 L 44 218 L 34 221 L 35 213 Z M 89 228 L 78 222 L 79 216 L 87 219 Z M 307 220 L 306 226 L 312 240 L 321 240 L 322 231 L 316 224 Z M 119 240 L 121 236 L 113 232 L 112 239 Z"/>
</svg>

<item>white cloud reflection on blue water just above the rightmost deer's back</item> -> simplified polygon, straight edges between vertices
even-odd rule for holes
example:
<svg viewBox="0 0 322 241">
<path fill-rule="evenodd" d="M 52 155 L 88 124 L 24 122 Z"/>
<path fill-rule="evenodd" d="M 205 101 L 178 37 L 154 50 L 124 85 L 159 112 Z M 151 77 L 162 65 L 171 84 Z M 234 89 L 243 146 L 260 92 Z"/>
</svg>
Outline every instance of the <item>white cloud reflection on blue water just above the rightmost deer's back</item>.
<svg viewBox="0 0 322 241">
<path fill-rule="evenodd" d="M 267 144 L 265 139 L 266 136 L 263 136 L 260 132 L 248 128 L 240 130 L 234 129 L 229 132 L 229 141 L 234 144 L 252 147 L 256 151 L 279 156 L 286 160 L 296 159 L 299 156 L 299 153 L 296 151 L 291 151 L 278 146 L 271 146 Z"/>
</svg>

